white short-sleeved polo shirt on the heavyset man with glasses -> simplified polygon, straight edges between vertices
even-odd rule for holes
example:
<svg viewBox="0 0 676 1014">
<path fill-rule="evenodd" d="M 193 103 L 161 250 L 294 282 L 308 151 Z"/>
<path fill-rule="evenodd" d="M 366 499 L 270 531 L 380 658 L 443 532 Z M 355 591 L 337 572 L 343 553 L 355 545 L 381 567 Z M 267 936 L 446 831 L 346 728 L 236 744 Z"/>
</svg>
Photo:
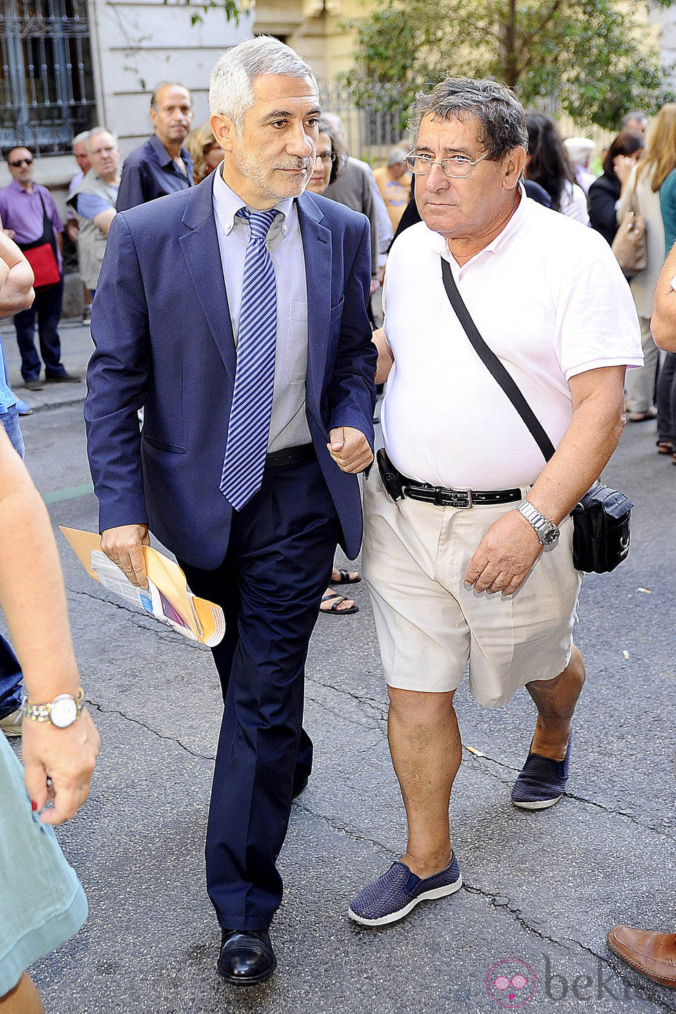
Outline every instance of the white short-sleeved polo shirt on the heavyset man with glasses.
<svg viewBox="0 0 676 1014">
<path fill-rule="evenodd" d="M 424 222 L 392 245 L 383 293 L 394 356 L 382 411 L 390 458 L 404 476 L 434 486 L 532 483 L 542 455 L 469 344 L 444 289 L 441 256 L 554 446 L 573 415 L 571 377 L 643 365 L 629 287 L 598 232 L 523 193 L 500 235 L 462 268 Z"/>
</svg>

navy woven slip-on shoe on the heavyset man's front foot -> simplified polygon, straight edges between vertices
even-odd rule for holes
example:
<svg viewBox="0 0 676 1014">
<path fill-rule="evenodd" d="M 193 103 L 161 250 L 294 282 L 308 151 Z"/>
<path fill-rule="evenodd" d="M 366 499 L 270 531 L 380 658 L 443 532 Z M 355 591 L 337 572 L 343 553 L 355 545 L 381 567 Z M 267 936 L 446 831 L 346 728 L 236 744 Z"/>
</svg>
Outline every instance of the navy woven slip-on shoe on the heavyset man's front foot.
<svg viewBox="0 0 676 1014">
<path fill-rule="evenodd" d="M 367 884 L 348 909 L 348 915 L 362 926 L 385 926 L 407 916 L 419 901 L 453 894 L 462 887 L 458 861 L 421 880 L 403 863 L 392 863 L 387 873 Z"/>
</svg>

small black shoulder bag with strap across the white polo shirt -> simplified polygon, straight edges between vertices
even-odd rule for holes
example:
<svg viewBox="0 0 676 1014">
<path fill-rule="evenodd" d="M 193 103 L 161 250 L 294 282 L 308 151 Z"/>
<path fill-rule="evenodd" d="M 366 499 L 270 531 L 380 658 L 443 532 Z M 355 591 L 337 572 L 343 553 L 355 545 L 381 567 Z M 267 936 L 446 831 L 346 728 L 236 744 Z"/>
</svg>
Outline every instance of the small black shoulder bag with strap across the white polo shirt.
<svg viewBox="0 0 676 1014">
<path fill-rule="evenodd" d="M 458 292 L 451 267 L 441 258 L 444 288 L 456 316 L 479 359 L 503 388 L 542 452 L 545 461 L 556 448 L 523 396 L 518 384 L 485 344 Z M 633 504 L 623 493 L 594 483 L 573 508 L 573 564 L 577 570 L 607 574 L 621 564 L 629 552 L 629 519 Z"/>
</svg>

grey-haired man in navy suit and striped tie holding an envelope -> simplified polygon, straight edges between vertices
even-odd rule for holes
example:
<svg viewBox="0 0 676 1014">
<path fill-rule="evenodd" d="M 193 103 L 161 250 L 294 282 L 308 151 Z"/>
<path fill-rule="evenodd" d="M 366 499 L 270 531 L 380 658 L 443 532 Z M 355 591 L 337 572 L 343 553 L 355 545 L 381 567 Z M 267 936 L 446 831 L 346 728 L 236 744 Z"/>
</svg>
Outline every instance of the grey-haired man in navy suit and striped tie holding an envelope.
<svg viewBox="0 0 676 1014">
<path fill-rule="evenodd" d="M 242 43 L 210 105 L 222 166 L 110 227 L 85 419 L 103 551 L 145 585 L 152 530 L 225 612 L 207 885 L 219 970 L 246 985 L 276 967 L 275 864 L 310 763 L 304 665 L 335 545 L 361 544 L 376 354 L 368 220 L 303 193 L 310 68 L 276 40 Z"/>
</svg>

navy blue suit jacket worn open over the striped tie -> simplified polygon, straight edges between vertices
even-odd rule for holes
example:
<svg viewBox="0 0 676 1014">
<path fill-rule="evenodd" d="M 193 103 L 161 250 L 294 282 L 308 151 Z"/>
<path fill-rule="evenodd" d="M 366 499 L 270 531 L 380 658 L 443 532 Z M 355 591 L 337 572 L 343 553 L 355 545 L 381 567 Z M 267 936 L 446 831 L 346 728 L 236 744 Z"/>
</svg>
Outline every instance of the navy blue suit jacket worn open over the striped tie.
<svg viewBox="0 0 676 1014">
<path fill-rule="evenodd" d="M 332 427 L 353 426 L 373 446 L 369 222 L 311 194 L 297 207 L 307 278 L 307 421 L 352 558 L 362 538 L 359 482 L 341 472 L 326 442 Z M 179 559 L 213 570 L 224 559 L 232 516 L 219 484 L 236 353 L 212 176 L 116 216 L 91 334 L 84 416 L 99 530 L 148 524 Z"/>
</svg>

